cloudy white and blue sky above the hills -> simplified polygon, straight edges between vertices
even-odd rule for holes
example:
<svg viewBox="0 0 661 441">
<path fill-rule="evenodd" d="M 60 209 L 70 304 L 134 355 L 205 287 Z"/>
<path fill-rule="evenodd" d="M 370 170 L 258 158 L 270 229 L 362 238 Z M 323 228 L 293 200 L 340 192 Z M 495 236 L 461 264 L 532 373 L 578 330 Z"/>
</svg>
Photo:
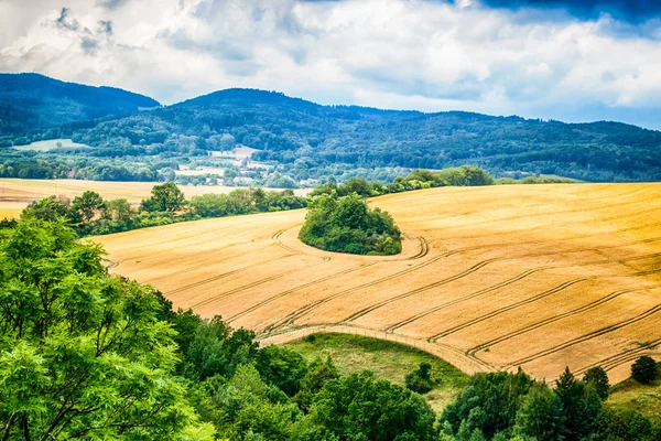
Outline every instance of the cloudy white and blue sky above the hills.
<svg viewBox="0 0 661 441">
<path fill-rule="evenodd" d="M 0 72 L 661 129 L 661 1 L 0 0 Z"/>
</svg>

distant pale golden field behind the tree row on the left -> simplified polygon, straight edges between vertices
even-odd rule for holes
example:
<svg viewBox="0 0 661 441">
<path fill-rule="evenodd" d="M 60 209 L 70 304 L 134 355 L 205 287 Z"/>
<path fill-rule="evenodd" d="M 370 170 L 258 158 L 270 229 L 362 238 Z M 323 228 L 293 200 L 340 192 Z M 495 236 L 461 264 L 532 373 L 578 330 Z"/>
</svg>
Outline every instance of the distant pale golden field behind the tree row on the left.
<svg viewBox="0 0 661 441">
<path fill-rule="evenodd" d="M 83 180 L 23 180 L 0 179 L 0 219 L 18 217 L 32 201 L 52 195 L 76 197 L 87 190 L 99 193 L 106 200 L 124 198 L 137 205 L 149 197 L 159 182 L 110 182 Z M 208 193 L 229 193 L 237 187 L 221 185 L 180 185 L 187 198 Z M 267 189 L 268 190 L 268 189 Z M 295 191 L 304 195 L 307 190 Z"/>
</svg>

